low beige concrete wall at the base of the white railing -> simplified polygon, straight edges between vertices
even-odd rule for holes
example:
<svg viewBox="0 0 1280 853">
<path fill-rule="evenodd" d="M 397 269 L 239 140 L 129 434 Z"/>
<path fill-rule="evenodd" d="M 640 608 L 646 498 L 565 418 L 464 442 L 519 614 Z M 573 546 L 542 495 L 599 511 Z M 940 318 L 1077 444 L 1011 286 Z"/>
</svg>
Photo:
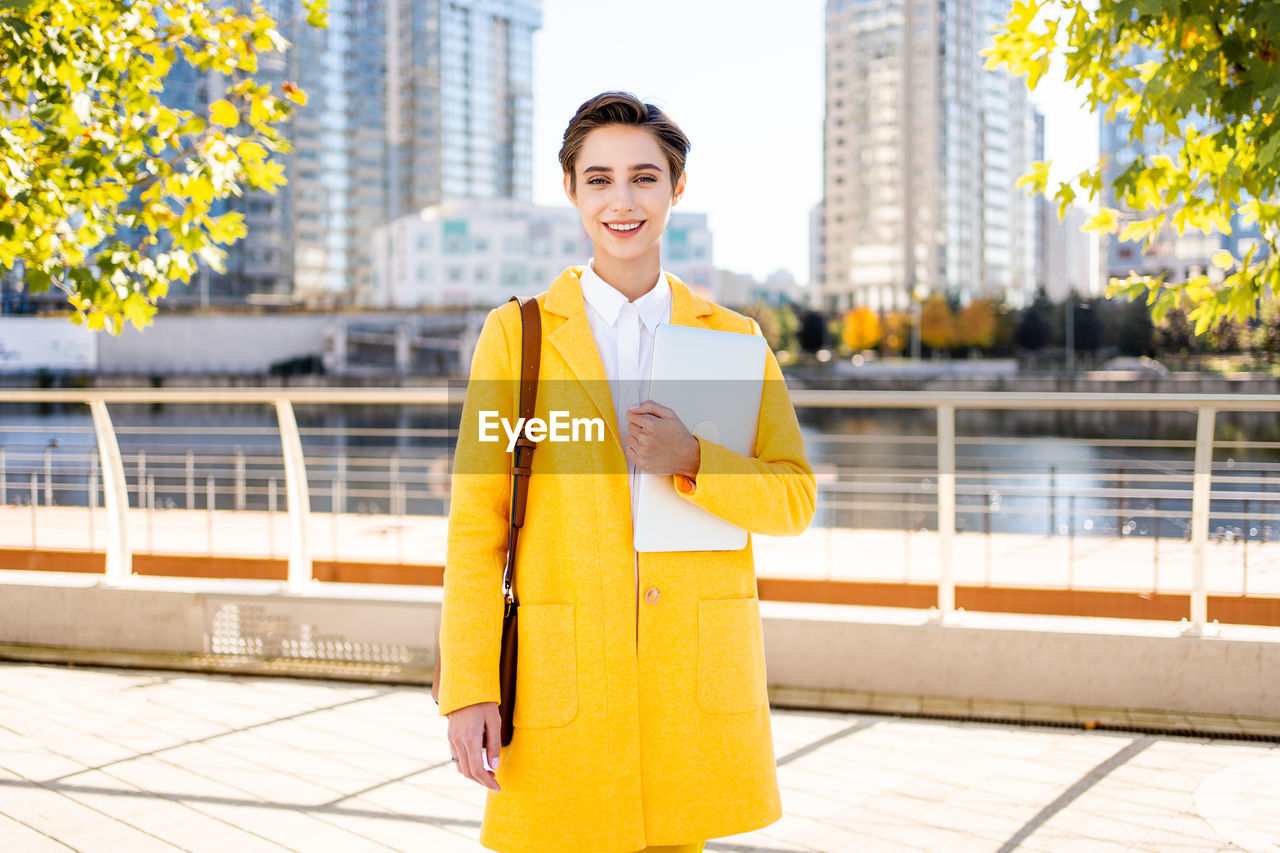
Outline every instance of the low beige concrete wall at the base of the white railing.
<svg viewBox="0 0 1280 853">
<path fill-rule="evenodd" d="M 67 660 L 116 649 L 334 661 L 419 681 L 435 660 L 439 588 L 334 584 L 300 597 L 270 581 L 137 583 L 147 587 L 9 573 L 0 643 L 64 647 Z M 1175 622 L 1000 613 L 937 624 L 924 611 L 788 602 L 760 612 L 771 689 L 1280 719 L 1280 629 L 1187 637 Z"/>
</svg>

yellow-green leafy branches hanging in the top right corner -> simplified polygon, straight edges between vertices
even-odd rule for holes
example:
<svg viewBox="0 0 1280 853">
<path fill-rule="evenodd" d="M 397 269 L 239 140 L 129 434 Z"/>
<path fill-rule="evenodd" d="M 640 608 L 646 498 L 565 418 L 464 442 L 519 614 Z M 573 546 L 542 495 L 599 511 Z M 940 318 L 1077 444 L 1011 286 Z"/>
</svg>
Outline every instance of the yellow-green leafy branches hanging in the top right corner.
<svg viewBox="0 0 1280 853">
<path fill-rule="evenodd" d="M 1066 81 L 1091 109 L 1129 122 L 1132 154 L 1110 165 L 1119 207 L 1103 206 L 1087 231 L 1123 241 L 1231 232 L 1258 223 L 1261 245 L 1243 257 L 1219 251 L 1226 274 L 1185 283 L 1162 277 L 1111 279 L 1107 295 L 1146 297 L 1158 323 L 1187 307 L 1196 334 L 1224 316 L 1248 319 L 1260 297 L 1280 297 L 1280 4 L 1275 0 L 1019 0 L 986 49 L 987 67 L 1027 74 L 1034 88 L 1060 51 Z M 1149 56 L 1149 59 L 1148 59 Z M 1059 202 L 1097 197 L 1105 158 L 1048 191 L 1048 163 L 1020 183 Z"/>
</svg>

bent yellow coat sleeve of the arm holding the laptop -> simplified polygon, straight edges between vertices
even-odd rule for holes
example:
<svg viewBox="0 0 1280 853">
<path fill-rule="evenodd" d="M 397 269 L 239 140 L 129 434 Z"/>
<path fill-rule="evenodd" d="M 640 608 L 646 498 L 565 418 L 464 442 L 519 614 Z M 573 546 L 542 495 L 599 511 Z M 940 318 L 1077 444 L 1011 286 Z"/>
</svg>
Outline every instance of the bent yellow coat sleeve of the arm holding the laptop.
<svg viewBox="0 0 1280 853">
<path fill-rule="evenodd" d="M 751 333 L 760 327 L 751 320 Z M 813 520 L 818 487 L 804 453 L 782 370 L 768 350 L 753 456 L 698 437 L 701 461 L 694 482 L 673 475 L 676 492 L 712 515 L 765 535 L 796 535 Z"/>
</svg>

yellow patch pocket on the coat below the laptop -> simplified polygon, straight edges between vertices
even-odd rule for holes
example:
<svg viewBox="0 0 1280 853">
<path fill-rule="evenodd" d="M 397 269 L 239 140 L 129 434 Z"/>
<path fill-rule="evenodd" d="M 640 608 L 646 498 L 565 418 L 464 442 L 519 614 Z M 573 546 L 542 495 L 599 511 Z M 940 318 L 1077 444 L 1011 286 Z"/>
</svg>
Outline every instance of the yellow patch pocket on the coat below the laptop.
<svg viewBox="0 0 1280 853">
<path fill-rule="evenodd" d="M 713 713 L 754 711 L 768 698 L 764 637 L 755 598 L 698 602 L 698 704 Z"/>
</svg>

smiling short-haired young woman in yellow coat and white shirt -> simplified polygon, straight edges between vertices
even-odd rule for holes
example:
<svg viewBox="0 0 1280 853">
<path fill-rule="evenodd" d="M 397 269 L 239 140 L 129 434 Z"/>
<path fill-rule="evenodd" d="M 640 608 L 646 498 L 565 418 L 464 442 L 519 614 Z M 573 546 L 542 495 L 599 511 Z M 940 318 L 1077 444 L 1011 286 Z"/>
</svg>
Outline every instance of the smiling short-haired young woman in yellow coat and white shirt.
<svg viewBox="0 0 1280 853">
<path fill-rule="evenodd" d="M 564 192 L 594 256 L 536 297 L 535 415 L 595 416 L 608 433 L 543 441 L 534 453 L 515 573 L 515 734 L 502 748 L 509 457 L 506 441 L 480 441 L 479 420 L 518 416 L 518 306 L 492 311 L 476 343 L 454 457 L 439 697 L 458 772 L 490 792 L 480 841 L 494 850 L 696 853 L 782 815 L 750 543 L 655 553 L 631 544 L 636 470 L 671 475 L 685 500 L 754 533 L 797 534 L 814 511 L 772 352 L 751 456 L 628 398 L 649 375 L 662 323 L 760 334 L 662 272 L 687 151 L 662 110 L 623 92 L 586 101 L 564 131 Z"/>
</svg>

